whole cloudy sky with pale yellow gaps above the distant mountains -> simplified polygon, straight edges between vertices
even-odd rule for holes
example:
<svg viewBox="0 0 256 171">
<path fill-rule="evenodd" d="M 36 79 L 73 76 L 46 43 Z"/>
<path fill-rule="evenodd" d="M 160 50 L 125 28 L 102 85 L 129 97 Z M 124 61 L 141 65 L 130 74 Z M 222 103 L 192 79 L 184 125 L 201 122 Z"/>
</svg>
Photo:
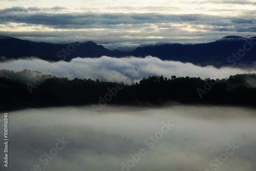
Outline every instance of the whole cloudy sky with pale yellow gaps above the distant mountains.
<svg viewBox="0 0 256 171">
<path fill-rule="evenodd" d="M 252 37 L 255 18 L 255 1 L 0 1 L 0 35 L 47 42 L 79 36 L 109 48 Z"/>
</svg>

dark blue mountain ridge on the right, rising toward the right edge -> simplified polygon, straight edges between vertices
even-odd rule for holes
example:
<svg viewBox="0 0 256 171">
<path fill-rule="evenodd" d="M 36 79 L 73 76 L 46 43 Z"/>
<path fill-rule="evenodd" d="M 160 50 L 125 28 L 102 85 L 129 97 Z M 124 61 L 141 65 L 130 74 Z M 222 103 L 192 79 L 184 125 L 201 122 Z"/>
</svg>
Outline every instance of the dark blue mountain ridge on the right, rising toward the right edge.
<svg viewBox="0 0 256 171">
<path fill-rule="evenodd" d="M 141 57 L 151 55 L 157 56 L 162 60 L 178 60 L 182 62 L 192 62 L 195 64 L 209 62 L 228 63 L 227 58 L 230 55 L 238 53 L 240 49 L 244 48 L 244 45 L 246 44 L 245 40 L 256 43 L 256 37 L 244 38 L 238 36 L 226 36 L 215 42 L 209 42 L 207 44 L 165 44 L 158 46 L 146 46 L 143 48 L 139 47 L 130 52 L 129 55 Z M 250 48 L 249 45 L 246 46 L 246 48 Z M 252 61 L 256 61 L 255 44 L 248 52 L 245 53 L 245 56 L 237 62 Z"/>
</svg>

